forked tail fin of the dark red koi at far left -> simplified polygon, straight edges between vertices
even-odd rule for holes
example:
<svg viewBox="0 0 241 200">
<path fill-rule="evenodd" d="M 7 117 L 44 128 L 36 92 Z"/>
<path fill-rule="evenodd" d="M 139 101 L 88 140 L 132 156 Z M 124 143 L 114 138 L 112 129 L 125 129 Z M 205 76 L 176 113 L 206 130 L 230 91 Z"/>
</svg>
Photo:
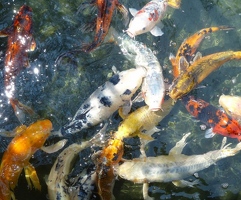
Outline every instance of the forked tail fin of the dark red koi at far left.
<svg viewBox="0 0 241 200">
<path fill-rule="evenodd" d="M 17 99 L 10 99 L 10 103 L 13 107 L 13 110 L 14 110 L 14 113 L 15 113 L 16 117 L 18 118 L 18 120 L 22 124 L 25 121 L 26 113 L 28 113 L 29 115 L 35 114 L 35 112 L 33 111 L 32 108 L 22 104 Z"/>
</svg>

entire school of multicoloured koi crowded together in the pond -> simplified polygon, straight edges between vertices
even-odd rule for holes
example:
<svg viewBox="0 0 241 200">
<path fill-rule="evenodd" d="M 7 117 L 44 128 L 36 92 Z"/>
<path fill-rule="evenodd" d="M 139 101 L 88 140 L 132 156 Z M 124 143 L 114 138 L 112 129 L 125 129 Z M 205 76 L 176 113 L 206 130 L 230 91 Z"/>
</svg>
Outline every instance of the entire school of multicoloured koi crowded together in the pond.
<svg viewBox="0 0 241 200">
<path fill-rule="evenodd" d="M 164 25 L 161 20 L 165 18 L 169 7 L 179 9 L 181 0 L 152 0 L 140 10 L 129 8 L 129 13 L 118 0 L 92 0 L 82 3 L 78 12 L 84 12 L 89 6 L 97 8 L 96 20 L 92 24 L 95 29 L 93 41 L 82 43 L 79 49 L 67 51 L 61 57 L 71 52 L 93 53 L 101 49 L 103 43 L 108 43 L 118 46 L 122 56 L 133 68 L 123 71 L 113 68 L 114 75 L 94 89 L 78 106 L 75 115 L 66 124 L 61 124 L 59 130 L 54 130 L 49 119 L 40 117 L 31 124 L 25 124 L 26 113 L 31 116 L 34 111 L 15 97 L 17 76 L 24 67 L 31 65 L 28 54 L 37 47 L 33 37 L 34 11 L 23 5 L 13 18 L 13 25 L 0 31 L 0 37 L 8 37 L 3 67 L 4 95 L 20 123 L 12 131 L 0 132 L 0 139 L 13 137 L 1 158 L 0 200 L 21 198 L 15 197 L 14 190 L 18 187 L 23 171 L 29 189 L 34 187 L 41 190 L 37 169 L 31 164 L 31 158 L 40 149 L 46 153 L 61 150 L 56 153 L 56 160 L 46 178 L 50 200 L 115 199 L 113 191 L 118 178 L 143 184 L 143 199 L 153 199 L 148 194 L 149 183 L 172 182 L 177 187 L 196 187 L 200 184 L 198 179 L 184 179 L 221 159 L 235 156 L 241 150 L 241 97 L 220 94 L 219 104 L 223 107 L 220 109 L 193 94 L 215 70 L 228 61 L 238 62 L 241 59 L 241 51 L 238 50 L 205 56 L 197 52 L 208 34 L 221 30 L 235 31 L 233 27 L 222 25 L 202 28 L 182 42 L 176 56 L 170 52 L 173 80 L 167 86 L 161 61 L 152 47 L 138 39 L 142 34 L 162 36 L 164 33 L 161 28 Z M 125 30 L 122 33 L 112 27 L 116 9 L 123 14 Z M 129 14 L 133 16 L 130 22 Z M 154 140 L 153 134 L 161 132 L 158 125 L 172 113 L 177 101 L 182 103 L 187 113 L 208 127 L 205 138 L 212 138 L 216 134 L 223 136 L 219 150 L 200 155 L 182 154 L 187 145 L 186 140 L 191 135 L 187 133 L 168 155 L 146 155 L 149 142 Z M 136 107 L 137 103 L 141 106 Z M 109 130 L 110 118 L 117 113 L 122 121 L 116 130 Z M 175 115 L 175 112 L 171 115 Z M 92 138 L 76 140 L 65 147 L 68 138 L 81 135 L 83 129 L 95 128 L 97 125 L 102 129 L 96 131 L 98 133 Z M 189 127 L 186 128 L 188 131 Z M 58 142 L 45 146 L 51 137 L 57 138 Z M 232 148 L 231 143 L 226 145 L 227 137 L 236 138 L 237 144 Z M 139 157 L 125 159 L 125 142 L 128 138 L 139 139 Z M 76 172 L 73 163 L 80 160 L 84 151 L 91 153 L 85 158 L 86 162 L 83 160 L 83 166 L 80 164 L 81 170 Z M 74 173 L 77 175 L 70 178 Z"/>
</svg>

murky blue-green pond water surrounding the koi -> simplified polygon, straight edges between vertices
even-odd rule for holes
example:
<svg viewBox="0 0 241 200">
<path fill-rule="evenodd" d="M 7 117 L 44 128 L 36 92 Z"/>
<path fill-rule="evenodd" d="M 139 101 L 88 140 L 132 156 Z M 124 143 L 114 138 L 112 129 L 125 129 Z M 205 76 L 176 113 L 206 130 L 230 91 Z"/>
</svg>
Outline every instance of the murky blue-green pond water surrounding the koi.
<svg viewBox="0 0 241 200">
<path fill-rule="evenodd" d="M 169 8 L 163 20 L 164 35 L 154 38 L 144 34 L 136 40 L 144 42 L 157 53 L 162 66 L 165 66 L 164 76 L 172 80 L 171 65 L 168 60 L 170 52 L 176 53 L 181 42 L 196 31 L 210 26 L 228 25 L 234 30 L 220 31 L 208 36 L 200 47 L 203 55 L 210 53 L 240 50 L 241 48 L 241 4 L 240 0 L 182 0 L 179 10 Z M 103 45 L 91 54 L 81 53 L 72 59 L 64 59 L 59 65 L 55 60 L 61 53 L 75 48 L 81 42 L 90 42 L 93 35 L 82 33 L 81 25 L 95 18 L 92 14 L 79 13 L 77 8 L 83 1 L 67 0 L 31 0 L 31 1 L 1 1 L 0 2 L 0 29 L 12 24 L 14 10 L 17 11 L 23 4 L 33 9 L 34 37 L 37 49 L 29 53 L 30 68 L 23 70 L 18 76 L 17 96 L 21 102 L 32 107 L 39 118 L 49 118 L 54 129 L 58 130 L 73 117 L 81 103 L 108 77 L 112 75 L 112 66 L 118 70 L 134 67 L 121 55 L 118 46 Z M 126 7 L 140 9 L 148 1 L 123 0 Z M 124 29 L 121 15 L 114 15 L 112 25 L 118 30 Z M 19 126 L 7 98 L 4 96 L 3 67 L 7 39 L 0 38 L 0 128 L 12 130 Z M 193 92 L 196 97 L 202 98 L 218 106 L 221 94 L 241 95 L 241 78 L 239 75 L 240 61 L 226 63 L 219 70 L 212 73 L 202 82 L 205 88 Z M 35 74 L 35 69 L 39 70 Z M 35 119 L 29 118 L 27 123 Z M 117 123 L 111 127 L 115 129 Z M 204 138 L 204 131 L 200 129 L 200 122 L 192 119 L 181 103 L 177 103 L 173 111 L 159 124 L 161 131 L 154 135 L 155 141 L 149 144 L 148 156 L 168 154 L 183 133 L 192 132 L 184 154 L 201 154 L 220 148 L 222 136 L 216 135 L 212 139 Z M 84 137 L 96 132 L 96 127 L 83 131 Z M 81 134 L 81 133 L 80 133 Z M 72 138 L 79 141 L 78 136 Z M 73 141 L 70 141 L 73 142 Z M 9 140 L 1 138 L 1 153 Z M 49 141 L 48 143 L 51 143 Z M 228 142 L 237 143 L 235 139 Z M 129 145 L 126 157 L 139 155 L 137 139 L 127 141 Z M 57 154 L 45 155 L 37 152 L 31 162 L 40 175 L 42 192 L 30 191 L 22 174 L 16 187 L 15 195 L 18 200 L 47 199 L 45 179 Z M 155 199 L 239 199 L 241 198 L 240 181 L 241 155 L 226 158 L 198 173 L 200 184 L 194 188 L 177 188 L 172 183 L 152 183 L 150 196 Z M 189 179 L 195 179 L 190 176 Z M 226 189 L 222 184 L 227 183 Z M 142 199 L 142 186 L 128 181 L 118 180 L 115 184 L 116 199 Z M 26 197 L 27 196 L 27 197 Z"/>
</svg>

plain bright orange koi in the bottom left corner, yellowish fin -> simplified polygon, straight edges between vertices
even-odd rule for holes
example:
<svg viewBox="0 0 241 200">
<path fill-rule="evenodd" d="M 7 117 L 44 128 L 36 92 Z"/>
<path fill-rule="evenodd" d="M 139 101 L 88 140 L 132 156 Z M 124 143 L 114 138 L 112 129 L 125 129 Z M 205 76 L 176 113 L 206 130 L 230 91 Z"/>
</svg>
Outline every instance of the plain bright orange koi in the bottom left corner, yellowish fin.
<svg viewBox="0 0 241 200">
<path fill-rule="evenodd" d="M 40 120 L 29 127 L 22 125 L 16 131 L 17 135 L 9 144 L 0 165 L 1 200 L 10 200 L 11 197 L 15 199 L 13 190 L 23 169 L 29 187 L 32 188 L 33 184 L 36 189 L 41 190 L 37 173 L 29 160 L 43 146 L 51 130 L 51 121 Z"/>
</svg>

